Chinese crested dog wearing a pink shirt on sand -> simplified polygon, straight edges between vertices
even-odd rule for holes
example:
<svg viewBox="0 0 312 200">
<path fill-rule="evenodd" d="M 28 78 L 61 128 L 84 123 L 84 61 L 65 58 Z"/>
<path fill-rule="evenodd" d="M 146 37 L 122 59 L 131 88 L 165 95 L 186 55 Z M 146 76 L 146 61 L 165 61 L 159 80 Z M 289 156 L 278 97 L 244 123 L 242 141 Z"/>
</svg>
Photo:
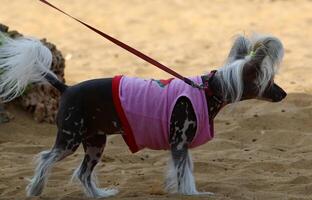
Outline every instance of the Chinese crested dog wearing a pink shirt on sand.
<svg viewBox="0 0 312 200">
<path fill-rule="evenodd" d="M 0 98 L 10 101 L 29 83 L 47 81 L 61 93 L 56 141 L 39 154 L 27 196 L 42 193 L 53 165 L 73 154 L 82 143 L 85 155 L 74 177 L 89 197 L 116 195 L 100 189 L 92 174 L 103 154 L 107 136 L 121 134 L 132 152 L 167 149 L 171 161 L 165 180 L 170 193 L 201 193 L 196 189 L 189 148 L 214 136 L 213 120 L 227 104 L 248 99 L 279 102 L 286 92 L 274 82 L 283 58 L 280 40 L 273 36 L 239 35 L 226 62 L 218 70 L 191 79 L 205 86 L 193 88 L 181 80 L 144 80 L 125 76 L 88 80 L 67 86 L 50 71 L 51 52 L 34 38 L 1 36 Z"/>
</svg>

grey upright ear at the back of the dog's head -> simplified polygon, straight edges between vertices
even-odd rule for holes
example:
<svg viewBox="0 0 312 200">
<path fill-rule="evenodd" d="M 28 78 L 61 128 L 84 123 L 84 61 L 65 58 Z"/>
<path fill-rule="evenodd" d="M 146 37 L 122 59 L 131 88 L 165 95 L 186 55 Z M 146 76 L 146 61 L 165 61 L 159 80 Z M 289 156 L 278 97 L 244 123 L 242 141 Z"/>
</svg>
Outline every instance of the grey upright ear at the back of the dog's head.
<svg viewBox="0 0 312 200">
<path fill-rule="evenodd" d="M 245 56 L 248 55 L 250 48 L 251 42 L 248 38 L 242 35 L 237 36 L 230 50 L 226 62 L 232 63 L 235 60 L 244 59 Z"/>
</svg>

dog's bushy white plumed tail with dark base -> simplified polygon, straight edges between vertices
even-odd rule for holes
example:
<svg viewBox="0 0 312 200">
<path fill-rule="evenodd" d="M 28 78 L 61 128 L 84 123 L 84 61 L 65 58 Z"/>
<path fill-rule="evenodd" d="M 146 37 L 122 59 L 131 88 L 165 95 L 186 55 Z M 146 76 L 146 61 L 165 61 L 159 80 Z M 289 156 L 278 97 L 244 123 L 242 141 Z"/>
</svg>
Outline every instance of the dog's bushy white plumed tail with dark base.
<svg viewBox="0 0 312 200">
<path fill-rule="evenodd" d="M 39 40 L 11 39 L 0 33 L 0 99 L 8 102 L 20 96 L 30 83 L 47 80 L 60 92 L 67 88 L 50 70 L 52 53 Z"/>
</svg>

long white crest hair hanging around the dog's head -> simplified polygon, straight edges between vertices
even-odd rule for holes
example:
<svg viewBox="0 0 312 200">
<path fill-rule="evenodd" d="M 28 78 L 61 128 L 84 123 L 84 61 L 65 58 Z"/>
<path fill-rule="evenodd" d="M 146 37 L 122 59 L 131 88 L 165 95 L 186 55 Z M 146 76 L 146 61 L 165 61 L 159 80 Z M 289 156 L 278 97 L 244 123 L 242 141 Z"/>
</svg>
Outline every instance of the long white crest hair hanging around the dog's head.
<svg viewBox="0 0 312 200">
<path fill-rule="evenodd" d="M 265 57 L 260 62 L 255 83 L 261 95 L 274 75 L 284 55 L 283 45 L 276 37 L 254 34 L 250 39 L 239 35 L 233 44 L 225 64 L 218 69 L 218 77 L 226 100 L 237 102 L 244 91 L 243 68 L 246 63 L 257 58 L 257 50 L 262 49 Z"/>
</svg>

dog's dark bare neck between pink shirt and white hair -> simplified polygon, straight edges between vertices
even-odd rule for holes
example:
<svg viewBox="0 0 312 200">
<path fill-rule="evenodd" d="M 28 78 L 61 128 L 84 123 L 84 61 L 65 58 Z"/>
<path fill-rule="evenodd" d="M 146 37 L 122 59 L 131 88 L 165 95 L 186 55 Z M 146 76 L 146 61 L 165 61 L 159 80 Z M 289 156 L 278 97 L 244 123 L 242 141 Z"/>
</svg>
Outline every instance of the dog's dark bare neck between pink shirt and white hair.
<svg viewBox="0 0 312 200">
<path fill-rule="evenodd" d="M 228 102 L 224 101 L 220 82 L 214 74 L 202 76 L 202 81 L 205 85 L 208 85 L 209 92 L 206 92 L 205 94 L 209 111 L 209 120 L 212 121 Z"/>
</svg>

